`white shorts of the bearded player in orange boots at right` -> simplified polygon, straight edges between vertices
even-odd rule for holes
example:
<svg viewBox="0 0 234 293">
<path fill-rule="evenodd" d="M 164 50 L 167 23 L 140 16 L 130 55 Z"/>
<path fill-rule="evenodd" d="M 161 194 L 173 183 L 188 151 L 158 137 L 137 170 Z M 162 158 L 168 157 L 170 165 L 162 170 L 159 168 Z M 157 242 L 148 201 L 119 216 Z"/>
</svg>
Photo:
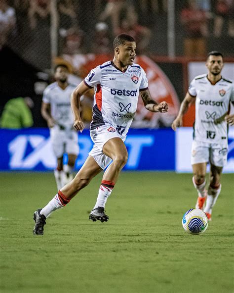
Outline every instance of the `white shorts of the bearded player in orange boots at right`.
<svg viewBox="0 0 234 293">
<path fill-rule="evenodd" d="M 217 167 L 224 167 L 228 159 L 227 144 L 212 144 L 193 141 L 191 164 L 210 162 Z"/>
</svg>

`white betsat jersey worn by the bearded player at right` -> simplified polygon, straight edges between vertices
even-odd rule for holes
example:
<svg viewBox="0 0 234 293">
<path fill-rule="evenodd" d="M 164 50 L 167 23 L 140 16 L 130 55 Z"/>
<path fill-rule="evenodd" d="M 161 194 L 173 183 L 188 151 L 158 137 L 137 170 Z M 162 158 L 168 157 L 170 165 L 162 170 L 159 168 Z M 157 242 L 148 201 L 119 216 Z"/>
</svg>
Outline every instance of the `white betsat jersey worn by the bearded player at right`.
<svg viewBox="0 0 234 293">
<path fill-rule="evenodd" d="M 228 126 L 224 120 L 230 110 L 230 102 L 234 101 L 234 84 L 221 78 L 212 85 L 207 74 L 196 76 L 190 84 L 189 94 L 195 101 L 196 141 L 208 143 L 227 143 Z"/>
</svg>

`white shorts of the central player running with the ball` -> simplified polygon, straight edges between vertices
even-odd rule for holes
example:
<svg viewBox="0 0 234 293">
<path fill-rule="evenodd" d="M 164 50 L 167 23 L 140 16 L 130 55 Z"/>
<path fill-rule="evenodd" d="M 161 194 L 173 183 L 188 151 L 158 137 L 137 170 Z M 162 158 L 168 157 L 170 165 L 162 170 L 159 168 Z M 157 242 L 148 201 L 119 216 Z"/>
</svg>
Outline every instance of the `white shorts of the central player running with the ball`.
<svg viewBox="0 0 234 293">
<path fill-rule="evenodd" d="M 120 138 L 123 142 L 126 137 L 117 133 L 115 127 L 110 124 L 105 124 L 90 130 L 90 137 L 94 143 L 93 148 L 89 152 L 97 164 L 104 170 L 111 163 L 112 159 L 102 152 L 102 148 L 106 142 L 113 138 Z"/>
</svg>

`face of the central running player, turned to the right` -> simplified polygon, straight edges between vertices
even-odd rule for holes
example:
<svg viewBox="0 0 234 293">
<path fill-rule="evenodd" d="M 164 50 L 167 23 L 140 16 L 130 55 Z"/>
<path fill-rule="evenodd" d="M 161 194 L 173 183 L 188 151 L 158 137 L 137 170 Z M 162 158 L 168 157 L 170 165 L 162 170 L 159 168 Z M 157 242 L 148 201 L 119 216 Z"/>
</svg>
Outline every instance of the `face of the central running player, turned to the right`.
<svg viewBox="0 0 234 293">
<path fill-rule="evenodd" d="M 136 43 L 126 42 L 118 47 L 118 59 L 124 65 L 132 65 L 136 56 Z"/>
</svg>

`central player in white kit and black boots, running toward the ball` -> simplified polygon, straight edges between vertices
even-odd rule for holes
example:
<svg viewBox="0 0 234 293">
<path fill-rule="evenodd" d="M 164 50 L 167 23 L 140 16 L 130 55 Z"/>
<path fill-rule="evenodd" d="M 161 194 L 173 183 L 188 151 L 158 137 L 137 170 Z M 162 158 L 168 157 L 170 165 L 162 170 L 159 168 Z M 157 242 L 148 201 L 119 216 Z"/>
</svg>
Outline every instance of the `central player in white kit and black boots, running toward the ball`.
<svg viewBox="0 0 234 293">
<path fill-rule="evenodd" d="M 127 162 L 128 153 L 123 142 L 136 112 L 139 94 L 149 111 L 165 113 L 168 110 L 165 101 L 157 104 L 151 98 L 146 74 L 134 63 L 135 40 L 129 35 L 118 35 L 114 40 L 114 49 L 113 61 L 91 70 L 71 96 L 74 127 L 82 132 L 84 124 L 80 118 L 80 97 L 94 87 L 93 120 L 90 126 L 94 146 L 76 177 L 45 207 L 35 211 L 34 234 L 42 235 L 46 218 L 65 206 L 94 176 L 106 168 L 89 219 L 108 221 L 104 208 L 119 173 Z"/>
</svg>

